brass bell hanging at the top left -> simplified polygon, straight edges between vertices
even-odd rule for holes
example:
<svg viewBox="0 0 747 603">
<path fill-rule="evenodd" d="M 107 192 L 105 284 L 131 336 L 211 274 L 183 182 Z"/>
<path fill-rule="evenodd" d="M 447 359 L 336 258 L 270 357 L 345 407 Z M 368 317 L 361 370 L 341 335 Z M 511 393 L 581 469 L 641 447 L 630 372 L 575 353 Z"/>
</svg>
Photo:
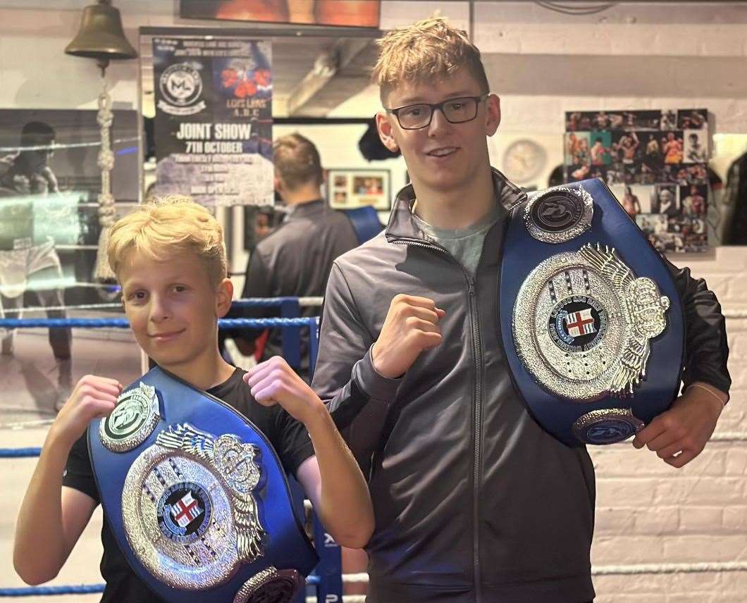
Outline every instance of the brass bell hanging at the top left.
<svg viewBox="0 0 747 603">
<path fill-rule="evenodd" d="M 137 51 L 125 37 L 120 11 L 111 6 L 111 0 L 98 2 L 84 8 L 78 35 L 65 52 L 96 59 L 104 75 L 110 60 L 134 59 Z"/>
</svg>

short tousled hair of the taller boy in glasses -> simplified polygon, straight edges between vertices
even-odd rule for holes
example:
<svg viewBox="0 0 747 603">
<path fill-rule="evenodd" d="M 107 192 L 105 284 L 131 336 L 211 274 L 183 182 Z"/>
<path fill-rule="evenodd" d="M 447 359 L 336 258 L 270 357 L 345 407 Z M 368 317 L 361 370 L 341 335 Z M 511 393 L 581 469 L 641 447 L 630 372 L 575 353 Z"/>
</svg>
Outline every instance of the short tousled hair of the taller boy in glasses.
<svg viewBox="0 0 747 603">
<path fill-rule="evenodd" d="M 467 32 L 457 29 L 443 17 L 431 17 L 403 29 L 388 32 L 380 40 L 379 60 L 373 67 L 382 103 L 402 82 L 426 84 L 433 78 L 447 78 L 459 69 L 480 84 L 483 94 L 490 91 L 480 51 L 468 40 Z"/>
</svg>

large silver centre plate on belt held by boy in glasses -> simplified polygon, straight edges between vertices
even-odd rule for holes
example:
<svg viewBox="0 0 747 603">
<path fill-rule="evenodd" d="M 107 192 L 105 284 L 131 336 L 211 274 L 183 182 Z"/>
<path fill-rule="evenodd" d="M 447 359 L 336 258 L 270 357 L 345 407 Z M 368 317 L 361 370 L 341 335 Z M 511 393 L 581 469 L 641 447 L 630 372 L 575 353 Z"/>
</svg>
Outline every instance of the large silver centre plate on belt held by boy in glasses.
<svg viewBox="0 0 747 603">
<path fill-rule="evenodd" d="M 635 278 L 614 249 L 585 245 L 549 257 L 521 285 L 516 351 L 536 381 L 563 399 L 632 395 L 667 308 L 657 284 Z"/>
</svg>

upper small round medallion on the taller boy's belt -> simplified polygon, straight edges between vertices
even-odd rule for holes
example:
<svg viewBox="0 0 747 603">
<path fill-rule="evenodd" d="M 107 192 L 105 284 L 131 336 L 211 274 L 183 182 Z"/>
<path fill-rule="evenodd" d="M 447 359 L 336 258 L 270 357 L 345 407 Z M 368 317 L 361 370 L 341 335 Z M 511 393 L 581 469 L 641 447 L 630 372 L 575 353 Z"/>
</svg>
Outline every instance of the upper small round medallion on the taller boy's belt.
<svg viewBox="0 0 747 603">
<path fill-rule="evenodd" d="M 565 243 L 589 230 L 594 199 L 583 187 L 553 187 L 537 193 L 524 208 L 524 225 L 536 240 Z"/>
</svg>

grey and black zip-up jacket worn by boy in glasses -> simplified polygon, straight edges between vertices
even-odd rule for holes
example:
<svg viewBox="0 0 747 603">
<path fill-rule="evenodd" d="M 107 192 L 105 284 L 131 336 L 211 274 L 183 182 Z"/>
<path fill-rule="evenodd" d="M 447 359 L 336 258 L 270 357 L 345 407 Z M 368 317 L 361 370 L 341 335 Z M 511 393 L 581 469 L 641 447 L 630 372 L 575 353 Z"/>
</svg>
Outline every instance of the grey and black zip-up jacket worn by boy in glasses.
<svg viewBox="0 0 747 603">
<path fill-rule="evenodd" d="M 503 208 L 524 199 L 494 172 Z M 500 340 L 498 275 L 507 210 L 471 278 L 397 196 L 384 234 L 335 261 L 312 386 L 368 475 L 376 529 L 373 603 L 585 603 L 595 483 L 583 447 L 527 413 Z M 670 265 L 671 266 L 671 265 Z M 671 266 L 686 307 L 686 383 L 728 391 L 724 319 L 704 281 Z M 371 346 L 397 293 L 436 301 L 443 341 L 399 379 Z"/>
</svg>

